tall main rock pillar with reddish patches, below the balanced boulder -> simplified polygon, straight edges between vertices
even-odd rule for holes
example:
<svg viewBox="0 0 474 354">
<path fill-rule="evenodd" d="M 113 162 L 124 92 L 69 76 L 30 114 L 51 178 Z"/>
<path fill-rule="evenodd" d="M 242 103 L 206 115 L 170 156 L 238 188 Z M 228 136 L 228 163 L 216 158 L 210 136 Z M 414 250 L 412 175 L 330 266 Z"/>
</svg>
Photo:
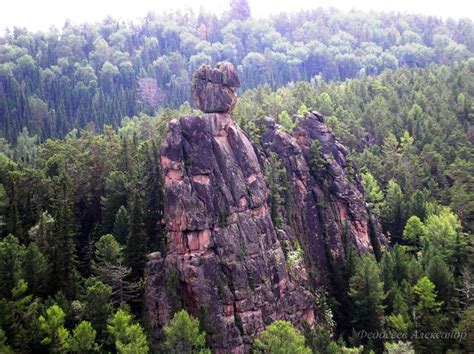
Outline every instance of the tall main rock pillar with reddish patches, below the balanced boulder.
<svg viewBox="0 0 474 354">
<path fill-rule="evenodd" d="M 255 150 L 230 116 L 172 121 L 161 163 L 168 251 L 164 259 L 150 257 L 145 296 L 155 335 L 176 299 L 205 317 L 217 353 L 248 352 L 252 338 L 276 319 L 312 324 L 305 266 L 290 274 Z"/>
</svg>

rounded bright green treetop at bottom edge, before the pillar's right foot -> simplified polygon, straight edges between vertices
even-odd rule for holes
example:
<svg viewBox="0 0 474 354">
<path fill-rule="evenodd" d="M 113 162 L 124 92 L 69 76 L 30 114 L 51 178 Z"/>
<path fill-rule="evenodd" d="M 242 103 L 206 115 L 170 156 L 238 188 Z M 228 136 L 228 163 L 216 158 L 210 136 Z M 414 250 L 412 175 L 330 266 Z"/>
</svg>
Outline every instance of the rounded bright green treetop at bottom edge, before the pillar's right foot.
<svg viewBox="0 0 474 354">
<path fill-rule="evenodd" d="M 305 338 L 288 321 L 277 320 L 255 338 L 254 350 L 259 353 L 311 353 Z"/>
</svg>

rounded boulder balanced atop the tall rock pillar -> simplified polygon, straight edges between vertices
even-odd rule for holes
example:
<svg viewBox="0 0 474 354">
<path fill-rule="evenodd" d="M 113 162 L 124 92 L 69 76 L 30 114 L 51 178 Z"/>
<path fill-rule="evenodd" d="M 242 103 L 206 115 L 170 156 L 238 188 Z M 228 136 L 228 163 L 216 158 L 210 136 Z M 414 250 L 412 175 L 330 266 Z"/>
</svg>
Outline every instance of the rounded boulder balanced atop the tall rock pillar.
<svg viewBox="0 0 474 354">
<path fill-rule="evenodd" d="M 221 62 L 215 69 L 202 65 L 193 75 L 194 104 L 205 113 L 230 112 L 237 103 L 235 90 L 239 86 L 232 64 Z"/>
</svg>

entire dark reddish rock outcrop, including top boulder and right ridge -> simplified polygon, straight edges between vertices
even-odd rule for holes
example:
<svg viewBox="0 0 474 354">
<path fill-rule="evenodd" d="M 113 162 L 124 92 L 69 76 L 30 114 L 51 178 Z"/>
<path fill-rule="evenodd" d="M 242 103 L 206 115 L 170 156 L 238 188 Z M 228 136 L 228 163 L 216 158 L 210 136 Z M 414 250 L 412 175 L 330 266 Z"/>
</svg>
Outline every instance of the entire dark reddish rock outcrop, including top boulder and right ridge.
<svg viewBox="0 0 474 354">
<path fill-rule="evenodd" d="M 261 145 L 253 146 L 228 113 L 234 74 L 227 64 L 202 67 L 196 105 L 219 113 L 169 124 L 161 148 L 168 248 L 149 256 L 145 290 L 157 337 L 184 307 L 203 320 L 213 350 L 222 353 L 249 351 L 276 319 L 313 324 L 311 290 L 327 281 L 328 257 L 341 262 L 348 244 L 371 251 L 376 239 L 357 170 L 323 118 L 297 117 L 291 133 L 266 119 Z M 271 154 L 285 167 L 291 199 L 277 206 L 284 216 L 278 228 L 263 173 Z"/>
</svg>

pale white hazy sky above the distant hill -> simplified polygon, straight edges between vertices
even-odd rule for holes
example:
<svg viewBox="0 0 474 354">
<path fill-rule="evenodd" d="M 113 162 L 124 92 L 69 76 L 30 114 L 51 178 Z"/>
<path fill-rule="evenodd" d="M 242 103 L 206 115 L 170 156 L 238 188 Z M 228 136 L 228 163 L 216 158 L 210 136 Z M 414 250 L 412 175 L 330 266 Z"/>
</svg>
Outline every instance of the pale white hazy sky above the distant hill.
<svg viewBox="0 0 474 354">
<path fill-rule="evenodd" d="M 31 30 L 46 30 L 51 25 L 61 28 L 66 19 L 73 23 L 101 21 L 107 15 L 124 20 L 143 17 L 147 12 L 192 8 L 221 13 L 229 0 L 2 0 L 0 30 L 13 25 Z M 474 19 L 472 0 L 249 0 L 254 17 L 282 11 L 333 6 L 343 10 L 399 11 L 443 18 Z"/>
</svg>

